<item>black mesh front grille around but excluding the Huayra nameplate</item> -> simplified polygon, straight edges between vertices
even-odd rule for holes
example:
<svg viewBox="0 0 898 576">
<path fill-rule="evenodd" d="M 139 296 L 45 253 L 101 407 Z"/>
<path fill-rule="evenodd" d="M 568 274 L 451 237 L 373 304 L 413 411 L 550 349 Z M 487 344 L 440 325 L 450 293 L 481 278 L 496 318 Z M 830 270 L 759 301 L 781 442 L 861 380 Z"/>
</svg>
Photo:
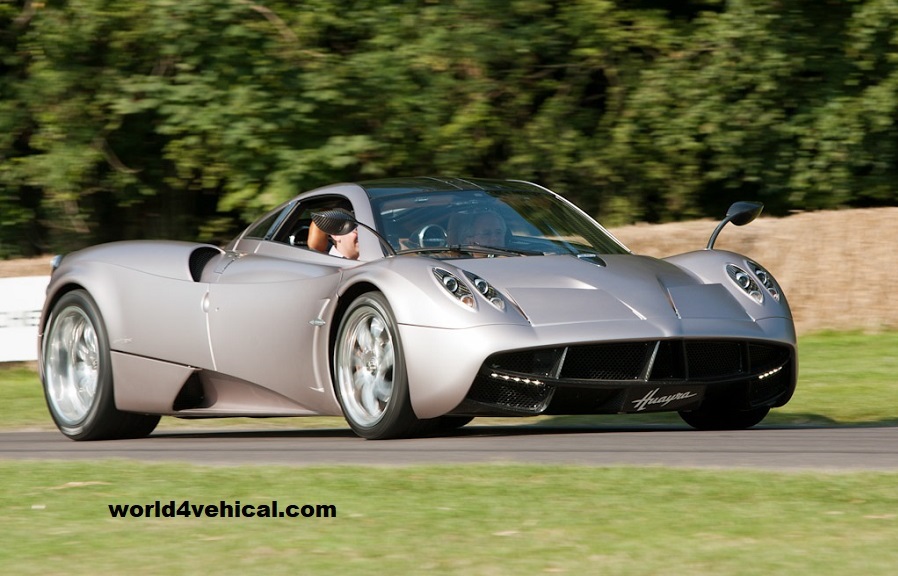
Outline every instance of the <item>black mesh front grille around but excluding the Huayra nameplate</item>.
<svg viewBox="0 0 898 576">
<path fill-rule="evenodd" d="M 613 413 L 622 410 L 625 393 L 633 384 L 693 384 L 707 386 L 705 397 L 716 398 L 715 402 L 765 406 L 793 384 L 791 361 L 789 346 L 738 340 L 673 339 L 517 350 L 487 359 L 466 401 L 476 413 Z M 525 378 L 540 384 L 515 382 Z"/>
</svg>

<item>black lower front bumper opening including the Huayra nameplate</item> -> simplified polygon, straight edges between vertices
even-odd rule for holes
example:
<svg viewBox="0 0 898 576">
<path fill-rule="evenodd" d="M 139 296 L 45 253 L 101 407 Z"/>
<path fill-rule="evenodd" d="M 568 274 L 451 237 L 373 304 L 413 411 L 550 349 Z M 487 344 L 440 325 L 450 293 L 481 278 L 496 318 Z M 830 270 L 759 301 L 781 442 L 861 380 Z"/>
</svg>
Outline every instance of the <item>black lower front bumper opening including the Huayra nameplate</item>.
<svg viewBox="0 0 898 576">
<path fill-rule="evenodd" d="M 652 352 L 665 348 L 661 354 Z M 715 350 L 724 353 L 702 355 Z M 638 359 L 634 352 L 643 351 L 645 358 Z M 539 368 L 509 370 L 505 364 L 527 357 L 536 359 L 533 365 L 547 357 L 573 362 L 548 373 Z M 632 375 L 624 377 L 631 370 Z M 623 414 L 695 410 L 709 404 L 749 410 L 785 404 L 794 388 L 794 351 L 788 346 L 725 340 L 597 344 L 493 356 L 452 413 Z"/>
</svg>

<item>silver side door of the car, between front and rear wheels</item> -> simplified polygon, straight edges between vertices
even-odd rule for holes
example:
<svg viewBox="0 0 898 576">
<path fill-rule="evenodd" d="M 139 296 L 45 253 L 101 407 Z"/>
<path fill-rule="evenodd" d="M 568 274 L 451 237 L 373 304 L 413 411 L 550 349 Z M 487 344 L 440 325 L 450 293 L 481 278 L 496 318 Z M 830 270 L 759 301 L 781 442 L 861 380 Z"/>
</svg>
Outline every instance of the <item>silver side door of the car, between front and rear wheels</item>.
<svg viewBox="0 0 898 576">
<path fill-rule="evenodd" d="M 207 306 L 216 371 L 314 411 L 332 408 L 326 319 L 343 269 L 358 262 L 315 251 L 297 233 L 311 210 L 345 203 L 298 204 L 265 237 L 242 241 L 220 268 Z"/>
</svg>

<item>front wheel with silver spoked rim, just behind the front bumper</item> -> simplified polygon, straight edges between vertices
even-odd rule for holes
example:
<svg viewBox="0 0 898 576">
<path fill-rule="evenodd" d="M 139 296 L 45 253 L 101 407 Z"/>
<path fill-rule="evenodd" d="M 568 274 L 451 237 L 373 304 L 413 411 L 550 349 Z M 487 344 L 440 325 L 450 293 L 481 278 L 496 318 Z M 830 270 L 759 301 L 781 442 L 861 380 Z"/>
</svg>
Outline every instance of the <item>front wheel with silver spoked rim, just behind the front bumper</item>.
<svg viewBox="0 0 898 576">
<path fill-rule="evenodd" d="M 368 440 L 414 435 L 415 417 L 396 320 L 380 292 L 356 298 L 334 344 L 334 389 L 352 430 Z"/>
</svg>

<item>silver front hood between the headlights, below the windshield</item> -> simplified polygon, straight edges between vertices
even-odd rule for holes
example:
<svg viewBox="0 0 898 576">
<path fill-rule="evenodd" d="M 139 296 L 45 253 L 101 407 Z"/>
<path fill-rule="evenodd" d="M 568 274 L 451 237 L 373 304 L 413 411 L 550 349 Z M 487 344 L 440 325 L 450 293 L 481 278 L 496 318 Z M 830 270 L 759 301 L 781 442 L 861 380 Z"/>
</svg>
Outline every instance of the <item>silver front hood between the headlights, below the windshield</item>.
<svg viewBox="0 0 898 576">
<path fill-rule="evenodd" d="M 603 255 L 468 260 L 459 267 L 505 293 L 533 325 L 659 318 L 750 321 L 720 284 L 705 284 L 664 260 Z"/>
</svg>

